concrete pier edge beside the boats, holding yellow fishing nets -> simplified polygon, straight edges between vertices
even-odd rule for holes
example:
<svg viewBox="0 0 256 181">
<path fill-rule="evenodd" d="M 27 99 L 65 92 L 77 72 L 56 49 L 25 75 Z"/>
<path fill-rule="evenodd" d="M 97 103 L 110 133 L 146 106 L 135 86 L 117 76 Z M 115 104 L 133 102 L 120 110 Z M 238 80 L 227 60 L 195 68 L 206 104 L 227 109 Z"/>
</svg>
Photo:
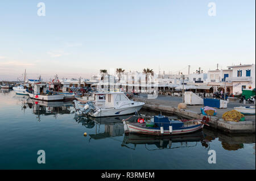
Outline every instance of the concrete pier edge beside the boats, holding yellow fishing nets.
<svg viewBox="0 0 256 181">
<path fill-rule="evenodd" d="M 163 96 L 161 99 L 147 99 L 147 98 L 133 98 L 135 101 L 144 102 L 143 108 L 152 111 L 161 111 L 162 113 L 171 113 L 175 115 L 180 115 L 187 119 L 202 119 L 204 115 L 201 115 L 200 108 L 201 106 L 188 106 L 186 110 L 178 110 L 177 105 L 182 102 L 182 100 L 177 100 L 174 98 L 171 99 L 171 96 L 168 96 L 168 99 L 164 99 Z M 217 109 L 217 115 L 212 116 L 210 122 L 210 128 L 218 129 L 226 133 L 255 133 L 255 115 L 245 116 L 245 121 L 233 122 L 233 121 L 224 121 L 222 120 L 222 115 L 226 111 L 233 110 L 232 107 L 225 109 Z"/>
</svg>

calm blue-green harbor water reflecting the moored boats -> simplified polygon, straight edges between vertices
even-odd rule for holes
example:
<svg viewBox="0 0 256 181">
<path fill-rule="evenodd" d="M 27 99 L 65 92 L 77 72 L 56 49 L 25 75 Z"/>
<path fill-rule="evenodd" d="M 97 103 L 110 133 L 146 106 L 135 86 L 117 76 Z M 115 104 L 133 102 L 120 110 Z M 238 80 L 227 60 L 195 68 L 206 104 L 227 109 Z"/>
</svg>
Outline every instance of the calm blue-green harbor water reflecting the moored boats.
<svg viewBox="0 0 256 181">
<path fill-rule="evenodd" d="M 255 169 L 255 134 L 125 136 L 121 120 L 129 116 L 92 120 L 73 111 L 72 102 L 35 102 L 0 89 L 0 169 Z M 45 164 L 38 150 L 46 151 Z"/>
</svg>

